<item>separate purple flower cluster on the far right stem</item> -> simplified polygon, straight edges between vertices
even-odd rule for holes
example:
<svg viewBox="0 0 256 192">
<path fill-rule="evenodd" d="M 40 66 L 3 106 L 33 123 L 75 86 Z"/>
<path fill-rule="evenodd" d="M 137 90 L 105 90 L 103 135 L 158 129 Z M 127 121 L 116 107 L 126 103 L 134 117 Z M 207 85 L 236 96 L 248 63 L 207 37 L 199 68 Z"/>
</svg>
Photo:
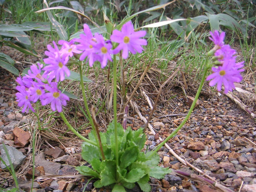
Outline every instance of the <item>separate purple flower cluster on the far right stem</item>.
<svg viewBox="0 0 256 192">
<path fill-rule="evenodd" d="M 210 32 L 212 40 L 215 44 L 214 51 L 215 57 L 218 59 L 218 64 L 212 67 L 212 74 L 210 74 L 206 80 L 211 80 L 209 85 L 214 86 L 217 84 L 217 90 L 221 90 L 222 84 L 224 85 L 224 93 L 232 91 L 235 88 L 234 82 L 240 82 L 242 76 L 240 72 L 244 66 L 244 62 L 236 63 L 236 50 L 230 48 L 230 45 L 224 44 L 225 32 L 219 32 L 216 30 L 214 33 Z"/>
</svg>

